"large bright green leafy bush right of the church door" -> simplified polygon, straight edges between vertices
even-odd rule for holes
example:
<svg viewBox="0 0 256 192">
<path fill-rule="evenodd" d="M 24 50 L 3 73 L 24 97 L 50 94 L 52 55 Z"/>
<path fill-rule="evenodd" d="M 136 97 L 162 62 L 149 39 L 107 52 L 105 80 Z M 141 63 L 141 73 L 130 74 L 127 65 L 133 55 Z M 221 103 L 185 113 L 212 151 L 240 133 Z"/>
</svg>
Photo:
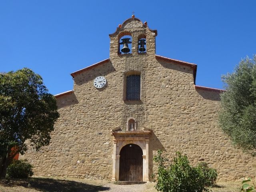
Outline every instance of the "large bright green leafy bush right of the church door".
<svg viewBox="0 0 256 192">
<path fill-rule="evenodd" d="M 162 157 L 162 151 L 153 158 L 158 164 L 158 173 L 152 175 L 156 182 L 156 190 L 161 192 L 208 192 L 208 182 L 202 168 L 192 167 L 186 155 L 176 152 L 172 164 L 166 165 L 167 158 Z M 207 172 L 207 171 L 206 171 Z"/>
</svg>

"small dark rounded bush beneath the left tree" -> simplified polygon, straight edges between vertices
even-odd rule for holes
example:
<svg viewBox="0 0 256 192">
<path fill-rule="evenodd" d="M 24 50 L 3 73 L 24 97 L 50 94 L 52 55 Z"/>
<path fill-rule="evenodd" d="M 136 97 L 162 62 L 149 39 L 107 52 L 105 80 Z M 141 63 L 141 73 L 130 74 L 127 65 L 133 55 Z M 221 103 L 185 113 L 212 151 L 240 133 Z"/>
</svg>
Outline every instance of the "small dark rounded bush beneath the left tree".
<svg viewBox="0 0 256 192">
<path fill-rule="evenodd" d="M 6 178 L 28 178 L 33 175 L 32 165 L 28 160 L 14 160 L 6 170 Z"/>
</svg>

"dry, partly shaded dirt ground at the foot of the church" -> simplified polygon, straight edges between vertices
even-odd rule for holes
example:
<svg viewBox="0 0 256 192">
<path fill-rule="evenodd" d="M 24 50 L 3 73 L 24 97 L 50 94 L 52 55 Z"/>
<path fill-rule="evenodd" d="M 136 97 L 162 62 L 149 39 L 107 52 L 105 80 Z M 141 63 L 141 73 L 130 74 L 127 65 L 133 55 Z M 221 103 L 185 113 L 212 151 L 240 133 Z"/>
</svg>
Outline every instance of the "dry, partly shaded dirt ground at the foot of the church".
<svg viewBox="0 0 256 192">
<path fill-rule="evenodd" d="M 217 182 L 212 192 L 239 192 L 241 181 Z M 0 180 L 0 192 L 156 192 L 154 183 L 116 185 L 108 181 L 33 177 Z"/>
</svg>

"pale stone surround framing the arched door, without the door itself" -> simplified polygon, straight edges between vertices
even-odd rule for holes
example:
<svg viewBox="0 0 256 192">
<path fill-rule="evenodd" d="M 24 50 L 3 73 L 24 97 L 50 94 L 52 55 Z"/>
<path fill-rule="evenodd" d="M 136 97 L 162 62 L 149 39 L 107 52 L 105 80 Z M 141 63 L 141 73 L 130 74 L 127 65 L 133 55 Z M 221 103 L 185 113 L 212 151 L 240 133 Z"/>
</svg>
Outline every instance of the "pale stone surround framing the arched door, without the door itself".
<svg viewBox="0 0 256 192">
<path fill-rule="evenodd" d="M 136 144 L 142 149 L 143 155 L 143 181 L 149 181 L 148 175 L 148 142 L 151 130 L 144 131 L 113 131 L 114 146 L 113 146 L 113 170 L 112 181 L 119 180 L 119 166 L 120 166 L 120 151 L 128 144 Z"/>
</svg>

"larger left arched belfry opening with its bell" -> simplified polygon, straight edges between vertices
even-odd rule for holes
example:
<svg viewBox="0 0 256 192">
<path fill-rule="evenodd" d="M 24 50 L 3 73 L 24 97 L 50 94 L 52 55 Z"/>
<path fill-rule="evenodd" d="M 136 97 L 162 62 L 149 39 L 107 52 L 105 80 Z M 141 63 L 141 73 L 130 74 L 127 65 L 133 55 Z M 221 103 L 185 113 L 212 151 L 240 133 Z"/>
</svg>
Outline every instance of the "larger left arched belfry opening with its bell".
<svg viewBox="0 0 256 192">
<path fill-rule="evenodd" d="M 129 32 L 123 32 L 119 38 L 119 54 L 132 53 L 132 36 Z"/>
</svg>

